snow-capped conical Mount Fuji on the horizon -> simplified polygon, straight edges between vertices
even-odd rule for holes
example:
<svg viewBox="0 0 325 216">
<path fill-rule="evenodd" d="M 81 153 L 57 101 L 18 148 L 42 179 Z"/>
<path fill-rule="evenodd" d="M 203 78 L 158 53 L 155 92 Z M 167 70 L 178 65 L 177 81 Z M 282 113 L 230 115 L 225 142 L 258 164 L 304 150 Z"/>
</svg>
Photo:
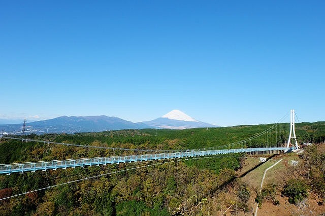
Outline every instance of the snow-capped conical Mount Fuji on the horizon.
<svg viewBox="0 0 325 216">
<path fill-rule="evenodd" d="M 160 118 L 152 121 L 142 122 L 151 127 L 168 128 L 168 129 L 186 129 L 198 127 L 218 127 L 216 125 L 200 122 L 186 115 L 179 110 L 173 110 Z"/>
</svg>

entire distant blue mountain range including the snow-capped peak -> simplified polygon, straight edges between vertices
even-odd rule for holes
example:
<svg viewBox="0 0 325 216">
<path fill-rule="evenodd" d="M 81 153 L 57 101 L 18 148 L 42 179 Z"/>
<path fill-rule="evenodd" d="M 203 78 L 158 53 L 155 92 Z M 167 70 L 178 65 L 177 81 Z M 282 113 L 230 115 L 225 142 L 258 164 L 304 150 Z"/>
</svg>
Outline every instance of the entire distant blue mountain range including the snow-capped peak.
<svg viewBox="0 0 325 216">
<path fill-rule="evenodd" d="M 0 124 L 0 134 L 21 134 L 22 125 L 23 122 L 20 124 Z M 218 126 L 200 122 L 179 110 L 173 110 L 168 114 L 152 121 L 138 123 L 108 116 L 61 116 L 54 119 L 26 123 L 26 133 L 78 133 L 121 129 L 185 129 L 198 127 Z"/>
</svg>

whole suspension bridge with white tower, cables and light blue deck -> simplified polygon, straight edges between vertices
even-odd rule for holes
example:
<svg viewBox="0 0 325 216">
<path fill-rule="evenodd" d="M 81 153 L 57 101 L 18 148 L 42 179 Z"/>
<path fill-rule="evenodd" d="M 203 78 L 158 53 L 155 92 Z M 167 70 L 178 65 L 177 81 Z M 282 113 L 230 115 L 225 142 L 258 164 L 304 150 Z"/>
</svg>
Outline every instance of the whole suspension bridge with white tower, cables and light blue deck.
<svg viewBox="0 0 325 216">
<path fill-rule="evenodd" d="M 283 117 L 278 123 L 271 126 L 269 129 L 258 133 L 247 139 L 231 143 L 228 145 L 216 146 L 205 149 L 194 150 L 144 150 L 144 149 L 124 149 L 124 148 L 110 148 L 110 147 L 96 147 L 96 146 L 84 146 L 71 143 L 59 143 L 59 142 L 46 142 L 42 140 L 32 140 L 24 138 L 15 138 L 2 136 L 4 139 L 19 139 L 22 141 L 35 141 L 52 143 L 56 145 L 75 146 L 81 148 L 99 148 L 99 149 L 116 149 L 123 151 L 133 152 L 147 152 L 150 154 L 138 154 L 128 156 L 110 156 L 110 157 L 96 157 L 96 158 L 78 158 L 67 160 L 52 160 L 52 161 L 37 161 L 37 162 L 21 162 L 12 164 L 0 164 L 0 174 L 10 175 L 11 173 L 24 173 L 24 172 L 36 172 L 37 170 L 48 169 L 67 169 L 84 166 L 100 166 L 107 164 L 119 164 L 119 163 L 136 163 L 142 161 L 160 161 L 160 160 L 177 160 L 181 158 L 200 158 L 207 156 L 233 154 L 233 153 L 247 153 L 247 154 L 273 154 L 283 151 L 284 153 L 290 151 L 297 151 L 299 149 L 296 132 L 295 132 L 295 111 L 290 111 L 290 125 L 287 128 L 286 125 L 281 124 L 281 121 L 286 118 Z M 284 137 L 286 132 L 289 131 L 288 140 L 285 141 Z M 291 139 L 294 139 L 294 145 L 291 145 Z"/>
</svg>

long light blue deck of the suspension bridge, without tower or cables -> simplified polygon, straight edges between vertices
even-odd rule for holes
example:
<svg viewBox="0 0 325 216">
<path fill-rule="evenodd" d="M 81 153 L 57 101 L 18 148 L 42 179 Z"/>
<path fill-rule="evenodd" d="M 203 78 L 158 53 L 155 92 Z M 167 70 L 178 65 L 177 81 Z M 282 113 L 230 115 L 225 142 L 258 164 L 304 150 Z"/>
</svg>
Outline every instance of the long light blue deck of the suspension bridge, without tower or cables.
<svg viewBox="0 0 325 216">
<path fill-rule="evenodd" d="M 174 153 L 158 153 L 146 155 L 131 155 L 131 156 L 112 156 L 102 158 L 80 158 L 70 160 L 54 160 L 54 161 L 39 161 L 39 162 L 26 162 L 26 163 L 13 163 L 13 164 L 0 164 L 0 174 L 10 174 L 12 172 L 27 172 L 36 170 L 47 169 L 66 169 L 69 167 L 84 167 L 92 165 L 106 165 L 118 164 L 126 162 L 137 161 L 150 161 L 150 160 L 163 160 L 163 159 L 176 159 L 185 157 L 201 157 L 210 155 L 244 153 L 244 152 L 264 152 L 264 151 L 279 151 L 289 150 L 285 147 L 274 148 L 247 148 L 247 149 L 224 149 L 224 150 L 206 150 L 206 151 L 186 151 Z"/>
</svg>

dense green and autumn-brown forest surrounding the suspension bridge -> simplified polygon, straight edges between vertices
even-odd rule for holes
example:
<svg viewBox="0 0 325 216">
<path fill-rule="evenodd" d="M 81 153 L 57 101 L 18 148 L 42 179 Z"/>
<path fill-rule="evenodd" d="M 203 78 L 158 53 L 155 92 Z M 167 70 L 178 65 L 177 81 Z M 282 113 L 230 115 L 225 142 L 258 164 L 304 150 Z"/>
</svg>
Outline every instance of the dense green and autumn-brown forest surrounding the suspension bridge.
<svg viewBox="0 0 325 216">
<path fill-rule="evenodd" d="M 26 138 L 44 142 L 2 138 L 0 164 L 145 154 L 137 151 L 55 145 L 47 141 L 125 149 L 186 151 L 237 142 L 270 126 L 272 125 L 29 134 Z M 325 122 L 298 123 L 296 133 L 299 143 L 322 143 L 325 140 Z M 282 195 L 294 204 L 307 197 L 308 193 L 324 200 L 325 152 L 313 145 L 301 155 L 301 159 L 304 161 L 302 165 L 295 170 L 289 170 L 287 176 L 291 182 L 283 185 Z M 242 160 L 240 157 L 188 158 L 0 175 L 0 199 L 34 191 L 1 200 L 0 214 L 219 215 L 225 211 L 245 213 L 251 210 L 251 206 L 248 206 L 248 199 L 251 197 L 256 197 L 256 202 L 261 206 L 265 200 L 272 200 L 275 185 L 269 184 L 262 193 L 254 194 L 236 174 L 243 166 Z M 297 187 L 290 187 L 292 185 Z M 229 191 L 229 187 L 234 191 L 232 195 L 225 193 Z M 48 189 L 36 191 L 42 188 Z M 297 188 L 301 191 L 295 191 Z M 228 199 L 230 196 L 232 199 Z M 277 204 L 277 200 L 273 201 Z"/>
</svg>

